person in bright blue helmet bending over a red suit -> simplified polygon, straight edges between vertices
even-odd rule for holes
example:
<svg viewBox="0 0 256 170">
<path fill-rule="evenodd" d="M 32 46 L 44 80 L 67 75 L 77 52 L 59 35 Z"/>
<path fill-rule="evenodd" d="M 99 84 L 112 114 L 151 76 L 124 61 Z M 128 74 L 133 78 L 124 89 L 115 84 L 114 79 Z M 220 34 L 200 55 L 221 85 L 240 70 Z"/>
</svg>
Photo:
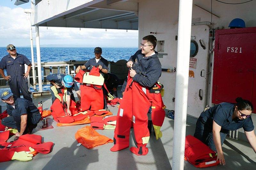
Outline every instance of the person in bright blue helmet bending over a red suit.
<svg viewBox="0 0 256 170">
<path fill-rule="evenodd" d="M 75 100 L 74 94 L 72 92 L 72 89 L 76 91 L 77 97 L 79 99 L 79 103 L 81 102 L 81 94 L 80 91 L 77 87 L 76 82 L 73 80 L 73 78 L 70 75 L 65 75 L 65 74 L 50 74 L 46 76 L 46 79 L 50 81 L 50 86 L 51 86 L 51 94 L 52 94 L 52 103 L 55 101 L 56 96 L 53 92 L 53 86 L 56 87 L 56 90 L 58 93 L 61 93 L 61 88 L 67 88 L 67 105 L 69 108 L 70 105 L 70 99 L 73 101 Z M 70 110 L 68 109 L 68 112 Z"/>
</svg>

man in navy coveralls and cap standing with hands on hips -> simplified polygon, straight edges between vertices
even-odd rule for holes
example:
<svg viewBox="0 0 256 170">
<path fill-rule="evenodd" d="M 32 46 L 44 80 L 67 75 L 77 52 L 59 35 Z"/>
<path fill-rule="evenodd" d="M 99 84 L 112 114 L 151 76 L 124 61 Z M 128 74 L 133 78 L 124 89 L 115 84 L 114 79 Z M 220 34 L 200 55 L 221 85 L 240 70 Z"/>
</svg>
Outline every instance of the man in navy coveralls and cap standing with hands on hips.
<svg viewBox="0 0 256 170">
<path fill-rule="evenodd" d="M 24 99 L 32 102 L 30 92 L 28 91 L 28 75 L 31 68 L 31 62 L 22 54 L 16 53 L 16 48 L 12 44 L 7 47 L 8 55 L 4 56 L 0 61 L 0 74 L 8 80 L 9 86 L 14 96 L 20 97 L 20 91 Z M 25 73 L 25 64 L 28 65 Z M 6 69 L 7 76 L 4 74 Z"/>
</svg>

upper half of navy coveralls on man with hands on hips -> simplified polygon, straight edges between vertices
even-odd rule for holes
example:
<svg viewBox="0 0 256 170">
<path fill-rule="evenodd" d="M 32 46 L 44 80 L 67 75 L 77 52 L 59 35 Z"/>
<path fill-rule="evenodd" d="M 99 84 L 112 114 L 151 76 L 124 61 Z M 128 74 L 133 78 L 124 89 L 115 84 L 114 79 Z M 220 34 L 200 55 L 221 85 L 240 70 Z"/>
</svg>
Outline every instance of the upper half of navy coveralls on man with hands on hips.
<svg viewBox="0 0 256 170">
<path fill-rule="evenodd" d="M 0 61 L 0 68 L 6 69 L 7 75 L 23 75 L 25 74 L 25 65 L 31 64 L 25 55 L 16 53 L 16 58 L 13 59 L 10 54 L 4 56 Z"/>
</svg>

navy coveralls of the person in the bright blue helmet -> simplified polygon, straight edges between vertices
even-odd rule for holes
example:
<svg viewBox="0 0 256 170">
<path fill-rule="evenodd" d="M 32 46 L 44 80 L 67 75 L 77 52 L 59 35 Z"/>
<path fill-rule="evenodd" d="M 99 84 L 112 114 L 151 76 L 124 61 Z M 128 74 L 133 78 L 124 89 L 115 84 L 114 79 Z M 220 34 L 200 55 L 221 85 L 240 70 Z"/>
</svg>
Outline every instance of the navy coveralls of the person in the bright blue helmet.
<svg viewBox="0 0 256 170">
<path fill-rule="evenodd" d="M 63 77 L 65 77 L 65 76 L 66 76 L 65 74 L 59 74 L 59 73 L 58 73 L 58 74 L 50 74 L 50 75 L 47 75 L 47 76 L 46 76 L 46 79 L 47 79 L 48 81 L 54 81 L 54 82 L 55 82 L 56 84 L 58 84 L 60 87 L 64 87 L 64 86 L 62 85 L 61 81 L 62 81 Z M 76 101 L 75 96 L 74 96 L 74 94 L 73 94 L 73 92 L 72 92 L 72 89 L 74 88 L 75 91 L 78 91 L 79 89 L 78 89 L 78 87 L 77 87 L 76 81 L 73 80 L 73 82 L 74 82 L 74 84 L 72 85 L 72 87 L 67 88 L 67 95 L 70 96 L 71 100 Z M 50 87 L 52 87 L 52 86 L 54 86 L 54 85 L 53 85 L 52 83 L 50 83 Z M 57 90 L 58 90 L 58 89 L 57 89 Z M 58 92 L 59 92 L 59 91 L 58 91 Z M 51 94 L 52 94 L 52 103 L 53 103 L 57 98 L 56 98 L 56 96 L 54 95 L 52 89 L 51 89 Z"/>
</svg>

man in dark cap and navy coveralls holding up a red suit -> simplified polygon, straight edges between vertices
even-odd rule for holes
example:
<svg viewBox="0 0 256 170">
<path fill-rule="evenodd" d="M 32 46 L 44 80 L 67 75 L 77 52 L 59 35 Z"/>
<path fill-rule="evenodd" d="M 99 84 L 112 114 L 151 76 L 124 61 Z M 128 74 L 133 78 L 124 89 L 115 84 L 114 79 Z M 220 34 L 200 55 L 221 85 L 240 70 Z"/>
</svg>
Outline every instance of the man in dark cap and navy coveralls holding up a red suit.
<svg viewBox="0 0 256 170">
<path fill-rule="evenodd" d="M 100 74 L 102 76 L 104 76 L 104 74 L 107 74 L 108 73 L 108 61 L 106 59 L 104 59 L 103 57 L 101 57 L 101 54 L 102 54 L 102 49 L 100 47 L 96 47 L 94 49 L 94 55 L 95 57 L 88 60 L 83 66 L 78 66 L 76 68 L 76 73 L 79 72 L 79 70 L 81 69 L 92 69 L 92 67 L 94 66 L 98 66 L 99 69 L 100 69 Z M 105 109 L 108 110 L 108 106 L 107 106 L 107 102 L 106 102 L 106 99 L 104 98 L 104 106 L 105 106 Z"/>
</svg>

